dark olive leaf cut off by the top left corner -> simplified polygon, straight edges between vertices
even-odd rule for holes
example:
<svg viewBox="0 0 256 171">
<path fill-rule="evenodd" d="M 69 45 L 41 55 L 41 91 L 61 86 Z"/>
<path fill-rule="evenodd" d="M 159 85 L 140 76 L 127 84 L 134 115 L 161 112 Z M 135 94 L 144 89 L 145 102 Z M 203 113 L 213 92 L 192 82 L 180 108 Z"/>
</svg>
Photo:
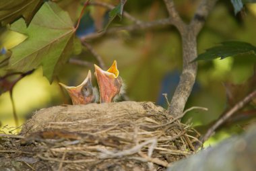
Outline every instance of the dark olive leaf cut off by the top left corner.
<svg viewBox="0 0 256 171">
<path fill-rule="evenodd" d="M 42 0 L 1 0 L 1 25 L 5 26 L 6 24 L 9 24 L 22 16 L 25 18 L 26 23 L 28 24 L 41 4 Z"/>
</svg>

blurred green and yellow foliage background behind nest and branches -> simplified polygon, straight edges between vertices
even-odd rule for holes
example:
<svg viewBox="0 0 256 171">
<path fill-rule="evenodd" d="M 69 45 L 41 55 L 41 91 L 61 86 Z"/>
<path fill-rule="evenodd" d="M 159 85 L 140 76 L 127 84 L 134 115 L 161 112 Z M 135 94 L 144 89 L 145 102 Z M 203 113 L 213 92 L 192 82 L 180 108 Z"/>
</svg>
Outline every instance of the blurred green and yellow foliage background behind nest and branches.
<svg viewBox="0 0 256 171">
<path fill-rule="evenodd" d="M 189 22 L 199 1 L 177 0 L 174 3 L 183 20 Z M 65 3 L 65 0 L 59 1 L 61 7 L 68 10 L 70 15 L 75 18 L 79 15 L 82 5 L 78 3 L 75 9 L 72 9 L 70 3 L 73 1 L 67 0 L 67 2 L 69 3 Z M 90 7 L 90 10 L 95 9 Z M 164 3 L 158 0 L 127 1 L 125 11 L 143 21 L 168 17 Z M 85 16 L 89 16 L 88 11 Z M 87 29 L 95 25 L 95 21 L 92 19 L 83 21 Z M 129 24 L 131 22 L 125 17 L 122 21 L 117 18 L 110 28 Z M 226 40 L 241 40 L 256 46 L 255 28 L 256 5 L 248 4 L 241 13 L 234 15 L 230 1 L 218 1 L 198 36 L 198 53 L 203 53 L 205 49 Z M 0 41 L 2 44 L 6 42 L 15 44 L 19 38 L 22 39 L 22 36 L 16 35 L 13 38 L 11 34 L 7 34 L 7 36 L 1 36 Z M 113 63 L 113 60 L 117 60 L 120 75 L 126 83 L 126 92 L 130 100 L 152 101 L 166 108 L 166 101 L 162 93 L 168 94 L 169 100 L 171 99 L 182 69 L 181 37 L 174 26 L 135 32 L 121 30 L 103 38 L 88 40 L 88 42 L 102 56 L 107 67 Z M 94 56 L 86 49 L 79 57 L 74 56 L 74 58 L 96 63 Z M 186 108 L 203 106 L 209 110 L 207 112 L 198 110 L 188 112 L 183 118 L 183 122 L 189 120 L 194 126 L 199 127 L 218 118 L 227 107 L 223 83 L 243 83 L 253 75 L 254 63 L 255 57 L 250 55 L 243 55 L 243 58 L 199 61 L 197 80 Z M 59 81 L 69 86 L 76 86 L 84 80 L 88 69 L 94 71 L 94 68 L 67 63 L 59 74 Z M 96 85 L 95 78 L 93 81 Z M 39 68 L 32 75 L 24 77 L 17 83 L 13 90 L 13 98 L 20 124 L 40 108 L 64 103 L 71 104 L 66 92 L 63 93 L 57 82 L 54 81 L 50 85 L 49 81 L 42 76 L 42 69 Z M 1 132 L 8 133 L 14 129 L 12 112 L 9 93 L 5 92 L 0 96 Z M 233 125 L 212 137 L 207 144 L 213 144 L 216 140 L 238 133 L 241 129 L 241 127 Z"/>
</svg>

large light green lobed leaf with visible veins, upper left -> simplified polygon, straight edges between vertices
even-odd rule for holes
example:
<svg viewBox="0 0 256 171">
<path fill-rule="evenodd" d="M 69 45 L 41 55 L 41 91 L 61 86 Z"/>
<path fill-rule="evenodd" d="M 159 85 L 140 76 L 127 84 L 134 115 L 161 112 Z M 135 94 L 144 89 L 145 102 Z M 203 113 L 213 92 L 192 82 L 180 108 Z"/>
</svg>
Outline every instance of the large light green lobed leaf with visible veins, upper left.
<svg viewBox="0 0 256 171">
<path fill-rule="evenodd" d="M 61 66 L 67 62 L 74 46 L 78 46 L 76 53 L 79 53 L 81 46 L 75 38 L 75 28 L 68 13 L 52 2 L 42 5 L 28 28 L 20 19 L 11 25 L 11 30 L 28 38 L 11 49 L 9 69 L 26 72 L 42 65 L 49 81 L 53 81 Z"/>
</svg>

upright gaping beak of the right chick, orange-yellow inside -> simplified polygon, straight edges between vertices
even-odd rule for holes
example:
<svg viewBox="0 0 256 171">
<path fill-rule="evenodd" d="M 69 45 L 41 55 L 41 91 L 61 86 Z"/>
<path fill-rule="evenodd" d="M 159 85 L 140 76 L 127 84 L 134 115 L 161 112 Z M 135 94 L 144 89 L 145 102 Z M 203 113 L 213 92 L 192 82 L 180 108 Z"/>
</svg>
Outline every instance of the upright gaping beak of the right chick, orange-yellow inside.
<svg viewBox="0 0 256 171">
<path fill-rule="evenodd" d="M 107 71 L 102 70 L 97 65 L 94 65 L 94 67 L 100 90 L 100 102 L 113 102 L 113 98 L 119 94 L 122 86 L 122 79 L 119 77 L 117 69 L 117 61 L 114 61 Z"/>
</svg>

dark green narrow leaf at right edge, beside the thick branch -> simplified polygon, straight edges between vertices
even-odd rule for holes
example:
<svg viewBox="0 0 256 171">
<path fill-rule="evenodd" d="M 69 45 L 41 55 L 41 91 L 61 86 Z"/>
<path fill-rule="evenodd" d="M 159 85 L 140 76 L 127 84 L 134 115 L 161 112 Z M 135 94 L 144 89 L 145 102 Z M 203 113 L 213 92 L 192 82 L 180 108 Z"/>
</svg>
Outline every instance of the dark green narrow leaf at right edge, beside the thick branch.
<svg viewBox="0 0 256 171">
<path fill-rule="evenodd" d="M 247 42 L 228 41 L 222 42 L 222 45 L 209 48 L 198 55 L 194 61 L 212 60 L 216 58 L 224 59 L 226 57 L 234 57 L 245 53 L 253 53 L 256 55 L 256 47 Z"/>
</svg>

